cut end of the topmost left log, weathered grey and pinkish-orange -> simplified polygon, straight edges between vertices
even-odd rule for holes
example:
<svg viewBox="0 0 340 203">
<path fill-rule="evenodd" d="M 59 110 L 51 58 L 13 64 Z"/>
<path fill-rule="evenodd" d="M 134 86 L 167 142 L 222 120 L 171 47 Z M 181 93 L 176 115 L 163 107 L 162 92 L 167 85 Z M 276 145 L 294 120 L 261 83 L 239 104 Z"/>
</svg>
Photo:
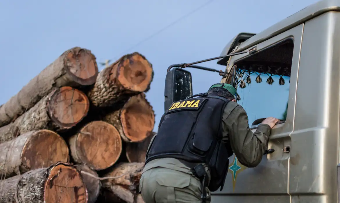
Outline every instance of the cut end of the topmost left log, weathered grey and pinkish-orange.
<svg viewBox="0 0 340 203">
<path fill-rule="evenodd" d="M 92 85 L 96 82 L 98 67 L 96 57 L 87 49 L 71 49 L 64 59 L 66 71 L 80 85 Z"/>
</svg>

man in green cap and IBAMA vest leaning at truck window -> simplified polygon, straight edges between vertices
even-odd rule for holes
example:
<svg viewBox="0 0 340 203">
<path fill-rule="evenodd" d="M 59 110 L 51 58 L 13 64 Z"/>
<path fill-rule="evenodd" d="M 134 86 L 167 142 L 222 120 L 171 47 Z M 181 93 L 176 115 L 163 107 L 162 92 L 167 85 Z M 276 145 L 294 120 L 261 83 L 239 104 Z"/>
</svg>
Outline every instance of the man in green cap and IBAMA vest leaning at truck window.
<svg viewBox="0 0 340 203">
<path fill-rule="evenodd" d="M 266 118 L 253 133 L 236 96 L 232 85 L 219 83 L 163 114 L 140 179 L 146 203 L 209 203 L 210 191 L 222 190 L 233 153 L 246 167 L 261 162 L 278 119 Z"/>
</svg>

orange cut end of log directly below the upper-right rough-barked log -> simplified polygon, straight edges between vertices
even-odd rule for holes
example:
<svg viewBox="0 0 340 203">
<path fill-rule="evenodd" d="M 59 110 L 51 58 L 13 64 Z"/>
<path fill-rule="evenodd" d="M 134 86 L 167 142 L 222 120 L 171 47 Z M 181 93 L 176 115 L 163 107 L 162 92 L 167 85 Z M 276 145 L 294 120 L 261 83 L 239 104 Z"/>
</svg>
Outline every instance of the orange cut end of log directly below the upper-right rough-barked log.
<svg viewBox="0 0 340 203">
<path fill-rule="evenodd" d="M 125 139 L 140 142 L 153 130 L 155 114 L 143 93 L 130 98 L 120 115 Z"/>
</svg>

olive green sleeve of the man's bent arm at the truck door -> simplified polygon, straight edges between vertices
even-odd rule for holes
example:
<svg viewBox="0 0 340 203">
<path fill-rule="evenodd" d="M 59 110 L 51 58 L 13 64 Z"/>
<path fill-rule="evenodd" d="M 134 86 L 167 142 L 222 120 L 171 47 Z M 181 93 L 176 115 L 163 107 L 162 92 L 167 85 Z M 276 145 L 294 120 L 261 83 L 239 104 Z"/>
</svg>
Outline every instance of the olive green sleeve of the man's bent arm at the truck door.
<svg viewBox="0 0 340 203">
<path fill-rule="evenodd" d="M 239 160 L 246 167 L 257 166 L 267 149 L 271 128 L 260 124 L 253 133 L 249 128 L 248 115 L 240 105 L 228 104 L 223 113 L 223 139 L 230 141 Z"/>
</svg>

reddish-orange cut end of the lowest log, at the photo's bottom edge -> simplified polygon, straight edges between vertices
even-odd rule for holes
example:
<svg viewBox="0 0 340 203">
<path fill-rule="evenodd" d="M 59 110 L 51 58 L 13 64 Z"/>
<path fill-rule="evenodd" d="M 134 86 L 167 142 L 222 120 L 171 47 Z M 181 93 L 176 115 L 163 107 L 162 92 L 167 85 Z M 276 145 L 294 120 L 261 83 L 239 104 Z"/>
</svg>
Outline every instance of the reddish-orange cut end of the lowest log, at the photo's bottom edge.
<svg viewBox="0 0 340 203">
<path fill-rule="evenodd" d="M 80 172 L 64 164 L 54 166 L 45 183 L 44 200 L 46 203 L 87 203 L 87 189 Z"/>
</svg>

